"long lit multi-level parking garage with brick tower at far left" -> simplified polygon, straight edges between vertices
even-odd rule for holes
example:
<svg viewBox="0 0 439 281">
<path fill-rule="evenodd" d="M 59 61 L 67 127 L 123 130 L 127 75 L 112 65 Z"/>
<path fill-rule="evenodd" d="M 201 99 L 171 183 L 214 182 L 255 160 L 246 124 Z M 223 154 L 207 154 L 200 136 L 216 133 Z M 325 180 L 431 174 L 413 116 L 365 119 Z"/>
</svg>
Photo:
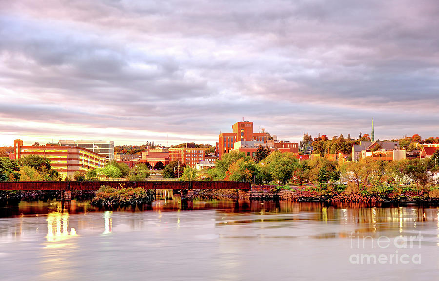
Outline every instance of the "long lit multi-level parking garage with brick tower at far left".
<svg viewBox="0 0 439 281">
<path fill-rule="evenodd" d="M 63 176 L 73 176 L 76 171 L 88 171 L 105 165 L 106 156 L 78 146 L 23 146 L 14 140 L 15 159 L 39 155 L 50 160 L 52 169 Z"/>
</svg>

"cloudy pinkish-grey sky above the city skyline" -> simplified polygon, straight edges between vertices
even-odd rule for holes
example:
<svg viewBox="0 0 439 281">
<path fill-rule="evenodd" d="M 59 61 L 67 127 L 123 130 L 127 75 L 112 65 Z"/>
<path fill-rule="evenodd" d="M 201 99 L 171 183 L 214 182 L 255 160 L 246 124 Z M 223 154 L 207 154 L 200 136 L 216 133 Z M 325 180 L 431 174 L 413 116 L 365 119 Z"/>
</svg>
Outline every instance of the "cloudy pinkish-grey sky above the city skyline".
<svg viewBox="0 0 439 281">
<path fill-rule="evenodd" d="M 439 135 L 437 0 L 0 0 L 0 146 Z"/>
</svg>

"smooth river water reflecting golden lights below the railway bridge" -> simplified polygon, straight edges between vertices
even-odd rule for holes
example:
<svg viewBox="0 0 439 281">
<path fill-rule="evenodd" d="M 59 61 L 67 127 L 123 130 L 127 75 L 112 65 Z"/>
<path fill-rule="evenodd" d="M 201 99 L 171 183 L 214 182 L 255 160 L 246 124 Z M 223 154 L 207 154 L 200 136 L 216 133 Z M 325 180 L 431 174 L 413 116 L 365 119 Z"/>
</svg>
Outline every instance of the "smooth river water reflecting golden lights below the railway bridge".
<svg viewBox="0 0 439 281">
<path fill-rule="evenodd" d="M 0 217 L 2 280 L 432 280 L 439 269 L 436 206 L 175 196 L 114 211 L 87 201 L 12 202 Z M 421 247 L 412 248 L 357 247 L 352 238 L 419 232 Z M 421 255 L 421 264 L 350 260 L 396 251 Z"/>
</svg>

